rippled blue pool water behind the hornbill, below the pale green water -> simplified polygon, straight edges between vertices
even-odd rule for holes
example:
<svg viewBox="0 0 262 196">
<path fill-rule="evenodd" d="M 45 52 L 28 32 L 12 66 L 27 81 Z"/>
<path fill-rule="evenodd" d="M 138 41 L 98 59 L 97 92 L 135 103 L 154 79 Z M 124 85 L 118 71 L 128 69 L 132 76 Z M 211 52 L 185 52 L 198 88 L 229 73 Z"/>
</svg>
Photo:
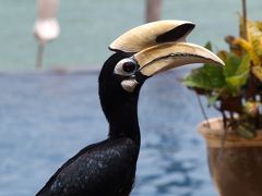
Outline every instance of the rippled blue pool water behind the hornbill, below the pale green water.
<svg viewBox="0 0 262 196">
<path fill-rule="evenodd" d="M 195 97 L 183 70 L 151 78 L 139 105 L 142 148 L 132 196 L 213 196 Z M 96 72 L 0 75 L 0 195 L 34 195 L 84 146 L 104 139 Z"/>
</svg>

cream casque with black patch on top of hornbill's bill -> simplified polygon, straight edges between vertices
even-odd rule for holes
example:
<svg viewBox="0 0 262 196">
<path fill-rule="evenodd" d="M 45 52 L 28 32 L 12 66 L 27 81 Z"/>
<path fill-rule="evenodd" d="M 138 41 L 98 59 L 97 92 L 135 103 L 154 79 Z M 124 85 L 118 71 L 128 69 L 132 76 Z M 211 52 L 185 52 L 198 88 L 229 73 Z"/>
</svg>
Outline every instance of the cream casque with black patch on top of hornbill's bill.
<svg viewBox="0 0 262 196">
<path fill-rule="evenodd" d="M 147 23 L 130 29 L 109 46 L 112 51 L 136 53 L 163 42 L 186 41 L 194 24 L 187 21 L 166 20 Z"/>
</svg>

